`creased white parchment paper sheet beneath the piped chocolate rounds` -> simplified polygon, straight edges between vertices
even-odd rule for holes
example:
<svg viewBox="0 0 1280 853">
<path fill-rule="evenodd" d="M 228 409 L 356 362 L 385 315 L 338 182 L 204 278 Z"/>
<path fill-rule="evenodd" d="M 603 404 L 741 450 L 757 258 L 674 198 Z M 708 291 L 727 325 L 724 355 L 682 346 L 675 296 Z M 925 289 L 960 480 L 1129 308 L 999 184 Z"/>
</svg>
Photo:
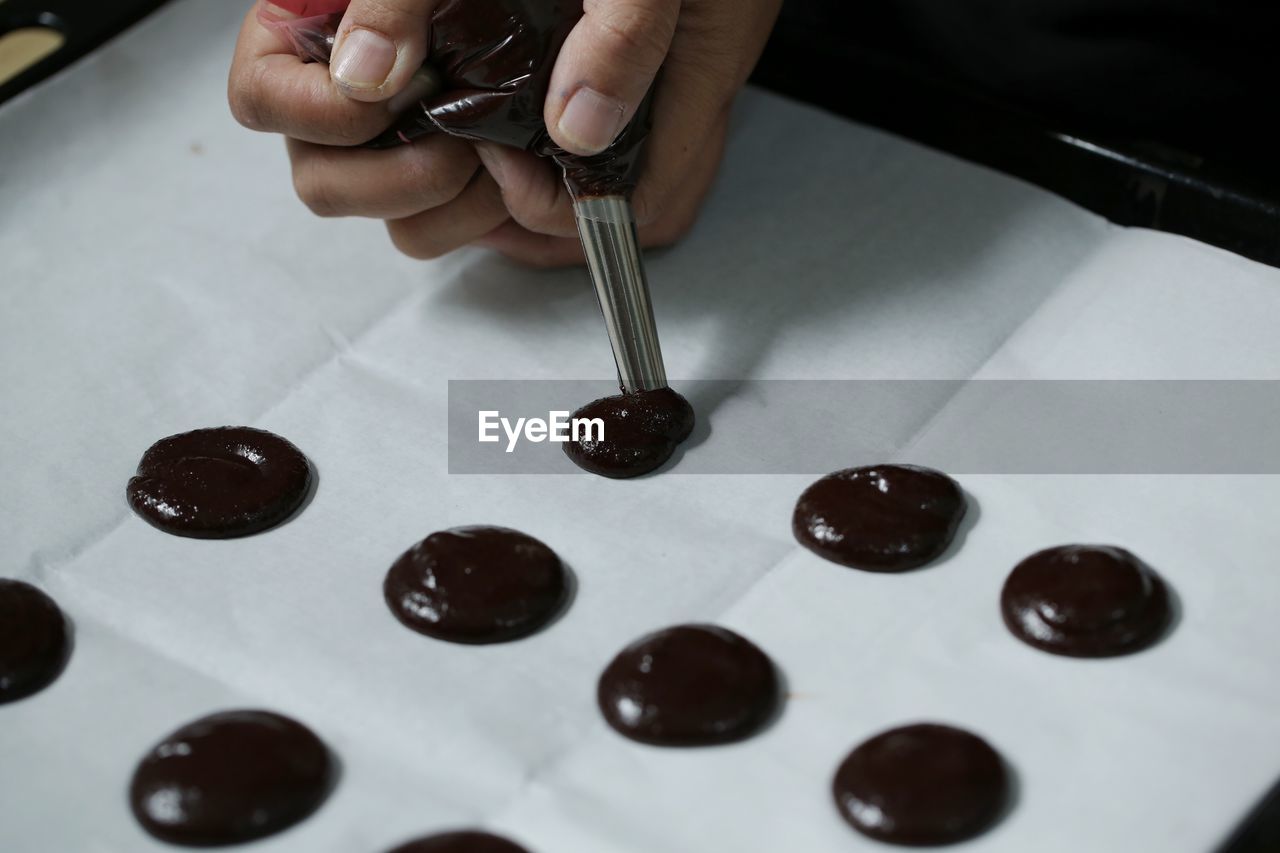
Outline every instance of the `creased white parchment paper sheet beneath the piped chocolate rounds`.
<svg viewBox="0 0 1280 853">
<path fill-rule="evenodd" d="M 0 575 L 76 624 L 63 676 L 0 707 L 0 849 L 164 849 L 129 816 L 133 765 L 229 707 L 294 715 L 342 761 L 262 853 L 463 825 L 538 853 L 877 849 L 831 774 L 925 719 L 1016 772 L 973 850 L 1204 850 L 1280 774 L 1275 478 L 965 475 L 959 544 L 877 576 L 795 544 L 806 476 L 449 476 L 448 379 L 609 378 L 585 274 L 413 263 L 376 223 L 310 216 L 279 140 L 224 105 L 237 5 L 172 4 L 0 110 Z M 650 260 L 675 378 L 1280 378 L 1274 269 L 771 95 L 733 123 L 703 219 Z M 713 442 L 733 407 L 699 414 Z M 311 505 L 232 542 L 132 516 L 146 447 L 221 424 L 306 451 Z M 396 622 L 388 565 L 457 524 L 549 543 L 566 615 L 480 648 Z M 1009 569 L 1074 540 L 1170 581 L 1165 642 L 1076 661 L 1005 631 Z M 664 751 L 605 727 L 603 665 L 686 620 L 777 661 L 765 733 Z"/>
</svg>

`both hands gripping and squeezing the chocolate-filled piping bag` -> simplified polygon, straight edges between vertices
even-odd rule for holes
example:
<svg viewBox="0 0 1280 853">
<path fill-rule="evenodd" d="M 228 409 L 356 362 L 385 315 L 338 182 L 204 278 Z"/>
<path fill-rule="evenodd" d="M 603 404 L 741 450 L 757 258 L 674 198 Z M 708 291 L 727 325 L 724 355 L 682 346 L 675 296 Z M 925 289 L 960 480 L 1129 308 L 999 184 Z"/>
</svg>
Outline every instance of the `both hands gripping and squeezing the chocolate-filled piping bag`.
<svg viewBox="0 0 1280 853">
<path fill-rule="evenodd" d="M 474 0 L 477 1 L 477 0 Z M 387 220 L 415 257 L 467 243 L 535 265 L 582 260 L 567 191 L 550 164 L 492 143 L 433 134 L 353 149 L 412 104 L 438 0 L 353 0 L 332 64 L 303 64 L 251 12 L 229 82 L 237 119 L 288 137 L 298 196 L 325 216 Z M 545 120 L 575 154 L 608 147 L 662 67 L 635 193 L 646 246 L 692 224 L 723 151 L 728 110 L 781 0 L 585 0 L 556 63 Z"/>
</svg>

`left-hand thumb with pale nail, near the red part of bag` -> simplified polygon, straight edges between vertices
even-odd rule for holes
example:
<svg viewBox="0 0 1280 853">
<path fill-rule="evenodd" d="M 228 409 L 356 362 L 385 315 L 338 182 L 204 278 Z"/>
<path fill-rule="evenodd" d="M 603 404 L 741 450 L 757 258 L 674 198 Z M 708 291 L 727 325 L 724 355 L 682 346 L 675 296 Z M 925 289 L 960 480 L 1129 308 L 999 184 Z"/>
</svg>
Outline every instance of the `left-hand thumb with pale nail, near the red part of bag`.
<svg viewBox="0 0 1280 853">
<path fill-rule="evenodd" d="M 426 59 L 439 0 L 353 0 L 334 36 L 329 74 L 347 97 L 384 101 L 408 86 Z"/>
</svg>

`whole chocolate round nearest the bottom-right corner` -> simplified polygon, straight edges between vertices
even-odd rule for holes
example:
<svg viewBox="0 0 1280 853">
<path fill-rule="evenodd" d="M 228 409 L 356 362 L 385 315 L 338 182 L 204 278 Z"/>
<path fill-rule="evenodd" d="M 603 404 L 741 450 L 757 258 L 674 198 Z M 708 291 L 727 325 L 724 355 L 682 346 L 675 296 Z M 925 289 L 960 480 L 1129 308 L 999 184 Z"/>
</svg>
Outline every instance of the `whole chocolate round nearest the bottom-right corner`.
<svg viewBox="0 0 1280 853">
<path fill-rule="evenodd" d="M 992 826 L 1009 802 L 1004 762 L 951 726 L 891 729 L 849 753 L 832 783 L 841 817 L 879 841 L 954 844 Z"/>
</svg>

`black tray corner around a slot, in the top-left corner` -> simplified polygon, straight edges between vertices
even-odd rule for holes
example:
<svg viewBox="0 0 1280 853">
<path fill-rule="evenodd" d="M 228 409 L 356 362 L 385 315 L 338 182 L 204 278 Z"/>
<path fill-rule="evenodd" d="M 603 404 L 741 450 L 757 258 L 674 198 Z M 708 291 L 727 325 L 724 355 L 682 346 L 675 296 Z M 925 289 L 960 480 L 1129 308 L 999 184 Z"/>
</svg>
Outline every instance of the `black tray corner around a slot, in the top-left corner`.
<svg viewBox="0 0 1280 853">
<path fill-rule="evenodd" d="M 0 0 L 0 35 L 23 27 L 63 33 L 63 46 L 0 85 L 0 104 L 67 68 L 165 0 Z"/>
</svg>

